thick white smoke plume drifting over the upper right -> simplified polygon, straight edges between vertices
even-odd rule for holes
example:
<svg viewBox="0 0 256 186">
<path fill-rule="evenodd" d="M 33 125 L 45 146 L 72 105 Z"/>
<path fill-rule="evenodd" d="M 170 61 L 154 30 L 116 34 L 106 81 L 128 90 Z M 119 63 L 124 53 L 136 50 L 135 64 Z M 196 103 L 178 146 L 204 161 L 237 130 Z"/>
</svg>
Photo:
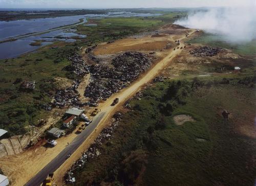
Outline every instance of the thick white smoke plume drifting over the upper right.
<svg viewBox="0 0 256 186">
<path fill-rule="evenodd" d="M 218 34 L 229 42 L 249 42 L 256 39 L 256 5 L 189 13 L 175 24 Z"/>
</svg>

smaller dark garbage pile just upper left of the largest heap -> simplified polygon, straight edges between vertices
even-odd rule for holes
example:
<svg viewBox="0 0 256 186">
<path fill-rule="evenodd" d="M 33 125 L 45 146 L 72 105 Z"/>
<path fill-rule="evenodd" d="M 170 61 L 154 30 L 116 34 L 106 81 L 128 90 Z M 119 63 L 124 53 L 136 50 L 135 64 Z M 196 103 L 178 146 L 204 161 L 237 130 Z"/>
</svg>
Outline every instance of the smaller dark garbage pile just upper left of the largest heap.
<svg viewBox="0 0 256 186">
<path fill-rule="evenodd" d="M 68 58 L 72 63 L 65 67 L 66 71 L 73 72 L 78 77 L 89 74 L 89 66 L 84 62 L 81 55 L 74 54 Z"/>
</svg>

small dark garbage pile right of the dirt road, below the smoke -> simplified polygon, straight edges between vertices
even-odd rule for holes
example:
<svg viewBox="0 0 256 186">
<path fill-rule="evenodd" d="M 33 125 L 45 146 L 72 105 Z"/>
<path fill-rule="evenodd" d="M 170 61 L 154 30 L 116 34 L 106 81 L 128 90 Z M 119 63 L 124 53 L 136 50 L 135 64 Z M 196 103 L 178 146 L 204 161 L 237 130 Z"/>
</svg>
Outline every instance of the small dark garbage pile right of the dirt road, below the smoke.
<svg viewBox="0 0 256 186">
<path fill-rule="evenodd" d="M 191 55 L 195 57 L 212 57 L 218 55 L 222 51 L 222 48 L 200 47 L 189 51 Z"/>
</svg>

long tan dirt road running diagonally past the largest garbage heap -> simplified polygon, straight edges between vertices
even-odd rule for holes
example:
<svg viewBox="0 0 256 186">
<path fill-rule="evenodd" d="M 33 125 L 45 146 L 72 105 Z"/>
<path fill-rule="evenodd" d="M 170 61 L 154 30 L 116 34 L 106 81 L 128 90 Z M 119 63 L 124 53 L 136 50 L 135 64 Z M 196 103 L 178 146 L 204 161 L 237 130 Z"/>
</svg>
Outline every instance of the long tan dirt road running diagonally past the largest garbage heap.
<svg viewBox="0 0 256 186">
<path fill-rule="evenodd" d="M 195 31 L 189 33 L 189 35 L 193 34 Z M 186 38 L 181 37 L 180 40 Z M 181 42 L 179 47 L 184 47 L 184 43 Z M 140 79 L 135 81 L 131 86 L 121 90 L 117 94 L 111 96 L 108 100 L 104 103 L 99 105 L 99 109 L 104 112 L 104 117 L 98 124 L 95 131 L 89 136 L 89 138 L 84 141 L 84 143 L 77 149 L 77 153 L 74 153 L 70 159 L 68 159 L 56 172 L 55 172 L 55 181 L 58 185 L 63 185 L 64 180 L 63 176 L 67 172 L 67 170 L 72 166 L 73 162 L 78 159 L 81 155 L 81 152 L 86 150 L 93 140 L 98 136 L 100 131 L 108 124 L 108 122 L 112 115 L 131 97 L 133 97 L 136 92 L 138 92 L 146 83 L 151 82 L 172 60 L 179 55 L 182 50 L 169 50 L 166 55 L 161 61 L 159 61 L 155 66 L 153 66 L 146 74 L 142 75 Z M 115 106 L 111 106 L 115 98 L 119 98 L 119 103 Z"/>
</svg>

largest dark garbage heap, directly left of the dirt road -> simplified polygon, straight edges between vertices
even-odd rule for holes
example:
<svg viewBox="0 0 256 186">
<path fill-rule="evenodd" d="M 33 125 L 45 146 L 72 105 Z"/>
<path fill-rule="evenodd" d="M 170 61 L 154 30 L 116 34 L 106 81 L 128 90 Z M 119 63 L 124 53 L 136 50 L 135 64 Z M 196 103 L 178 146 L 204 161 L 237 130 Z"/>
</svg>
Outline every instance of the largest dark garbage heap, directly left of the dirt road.
<svg viewBox="0 0 256 186">
<path fill-rule="evenodd" d="M 113 67 L 91 66 L 91 80 L 84 96 L 89 97 L 92 103 L 105 100 L 136 80 L 151 64 L 146 54 L 125 52 L 112 60 Z"/>
</svg>

